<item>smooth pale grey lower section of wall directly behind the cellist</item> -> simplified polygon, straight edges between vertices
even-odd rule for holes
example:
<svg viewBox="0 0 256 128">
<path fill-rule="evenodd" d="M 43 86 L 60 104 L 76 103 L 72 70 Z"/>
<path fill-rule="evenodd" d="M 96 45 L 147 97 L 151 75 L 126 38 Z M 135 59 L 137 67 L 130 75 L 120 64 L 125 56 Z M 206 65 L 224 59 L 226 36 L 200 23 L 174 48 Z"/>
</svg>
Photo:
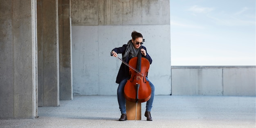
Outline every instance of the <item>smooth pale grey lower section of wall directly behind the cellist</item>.
<svg viewBox="0 0 256 128">
<path fill-rule="evenodd" d="M 104 25 L 72 26 L 74 95 L 117 94 L 121 61 L 110 52 L 127 44 L 133 30 L 143 35 L 143 46 L 153 60 L 148 78 L 158 88 L 155 94 L 171 94 L 171 56 L 162 52 L 171 53 L 170 25 Z"/>
</svg>

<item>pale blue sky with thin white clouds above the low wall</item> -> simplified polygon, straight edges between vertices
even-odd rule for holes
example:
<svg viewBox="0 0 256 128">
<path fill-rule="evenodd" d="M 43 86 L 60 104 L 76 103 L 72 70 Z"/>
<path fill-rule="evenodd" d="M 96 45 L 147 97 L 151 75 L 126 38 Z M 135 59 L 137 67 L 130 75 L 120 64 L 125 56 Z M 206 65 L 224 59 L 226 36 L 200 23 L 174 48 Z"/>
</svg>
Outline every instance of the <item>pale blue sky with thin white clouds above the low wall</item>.
<svg viewBox="0 0 256 128">
<path fill-rule="evenodd" d="M 256 0 L 170 0 L 171 65 L 256 65 Z"/>
</svg>

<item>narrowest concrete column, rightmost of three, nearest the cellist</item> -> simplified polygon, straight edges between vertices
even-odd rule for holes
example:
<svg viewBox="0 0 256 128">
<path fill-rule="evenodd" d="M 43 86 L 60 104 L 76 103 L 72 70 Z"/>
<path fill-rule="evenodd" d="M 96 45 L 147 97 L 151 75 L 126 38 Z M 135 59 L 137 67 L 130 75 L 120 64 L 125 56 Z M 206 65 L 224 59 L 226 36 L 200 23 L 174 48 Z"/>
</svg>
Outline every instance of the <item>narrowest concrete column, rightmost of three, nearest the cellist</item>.
<svg viewBox="0 0 256 128">
<path fill-rule="evenodd" d="M 70 0 L 58 0 L 60 100 L 72 100 Z"/>
</svg>

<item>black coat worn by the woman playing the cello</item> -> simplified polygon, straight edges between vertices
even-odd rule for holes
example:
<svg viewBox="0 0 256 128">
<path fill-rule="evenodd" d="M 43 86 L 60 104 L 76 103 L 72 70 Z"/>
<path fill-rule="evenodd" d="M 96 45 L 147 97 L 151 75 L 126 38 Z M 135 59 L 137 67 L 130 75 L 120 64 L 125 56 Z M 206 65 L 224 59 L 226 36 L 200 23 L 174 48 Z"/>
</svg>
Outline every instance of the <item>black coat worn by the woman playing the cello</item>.
<svg viewBox="0 0 256 128">
<path fill-rule="evenodd" d="M 127 46 L 128 45 L 124 44 L 122 47 L 116 47 L 112 51 L 115 51 L 117 54 L 122 54 L 122 56 L 124 56 L 124 53 L 126 51 Z M 148 59 L 149 63 L 151 64 L 152 59 L 148 55 L 146 47 L 141 46 L 141 48 L 146 50 L 146 56 L 141 55 L 141 57 L 144 57 L 144 58 Z M 123 61 L 125 61 L 126 63 L 129 63 L 131 58 L 132 58 L 132 56 L 128 56 L 128 57 L 126 57 L 126 60 L 123 60 Z M 130 79 L 129 67 L 127 65 L 125 65 L 124 63 L 122 63 L 120 68 L 119 68 L 118 74 L 117 74 L 116 83 L 120 83 L 122 80 L 124 80 L 126 78 Z"/>
</svg>

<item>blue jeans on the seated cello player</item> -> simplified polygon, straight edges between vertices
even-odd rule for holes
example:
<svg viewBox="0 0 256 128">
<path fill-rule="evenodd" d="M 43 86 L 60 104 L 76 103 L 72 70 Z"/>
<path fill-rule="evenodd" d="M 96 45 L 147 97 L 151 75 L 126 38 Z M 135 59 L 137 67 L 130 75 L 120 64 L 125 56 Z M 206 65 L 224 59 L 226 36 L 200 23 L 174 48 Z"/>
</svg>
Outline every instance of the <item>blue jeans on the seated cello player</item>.
<svg viewBox="0 0 256 128">
<path fill-rule="evenodd" d="M 121 111 L 121 114 L 126 113 L 126 99 L 124 98 L 124 85 L 126 84 L 127 80 L 128 79 L 124 79 L 123 81 L 121 81 L 117 88 L 117 100 L 119 103 L 119 109 Z M 148 81 L 148 78 L 146 78 L 146 80 Z M 151 97 L 146 103 L 147 112 L 151 111 L 151 108 L 153 107 L 152 105 L 154 101 L 154 96 L 155 96 L 155 86 L 150 81 L 149 81 L 149 85 L 151 87 Z"/>
</svg>

